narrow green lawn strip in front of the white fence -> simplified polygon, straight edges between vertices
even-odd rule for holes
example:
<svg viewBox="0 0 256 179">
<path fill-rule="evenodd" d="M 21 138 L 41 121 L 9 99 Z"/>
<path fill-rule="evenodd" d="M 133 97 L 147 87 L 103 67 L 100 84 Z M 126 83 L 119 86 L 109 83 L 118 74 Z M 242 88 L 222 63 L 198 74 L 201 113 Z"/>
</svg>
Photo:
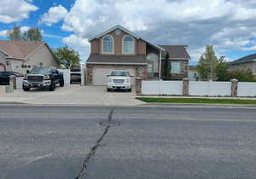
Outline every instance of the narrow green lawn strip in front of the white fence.
<svg viewBox="0 0 256 179">
<path fill-rule="evenodd" d="M 256 105 L 256 100 L 207 99 L 207 98 L 153 98 L 137 97 L 137 100 L 157 103 L 207 103 L 207 104 L 250 104 Z"/>
</svg>

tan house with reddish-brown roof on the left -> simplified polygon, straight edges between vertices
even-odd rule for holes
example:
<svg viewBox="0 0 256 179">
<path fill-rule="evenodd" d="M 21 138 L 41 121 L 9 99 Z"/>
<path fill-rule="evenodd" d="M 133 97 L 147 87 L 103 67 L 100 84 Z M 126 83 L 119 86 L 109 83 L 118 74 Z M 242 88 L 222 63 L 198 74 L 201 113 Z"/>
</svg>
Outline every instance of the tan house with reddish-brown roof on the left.
<svg viewBox="0 0 256 179">
<path fill-rule="evenodd" d="M 0 72 L 14 71 L 25 74 L 34 66 L 55 66 L 55 55 L 43 41 L 0 40 Z"/>
</svg>

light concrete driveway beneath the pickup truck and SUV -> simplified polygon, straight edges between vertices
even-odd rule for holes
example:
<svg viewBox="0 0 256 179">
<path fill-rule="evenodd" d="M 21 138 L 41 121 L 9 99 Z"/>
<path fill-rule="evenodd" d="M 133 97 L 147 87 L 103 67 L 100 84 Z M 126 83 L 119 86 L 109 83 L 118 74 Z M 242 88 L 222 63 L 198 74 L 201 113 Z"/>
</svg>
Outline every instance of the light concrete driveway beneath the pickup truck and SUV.
<svg viewBox="0 0 256 179">
<path fill-rule="evenodd" d="M 103 86 L 68 85 L 48 90 L 15 90 L 12 94 L 0 95 L 0 102 L 22 102 L 35 105 L 85 105 L 85 106 L 135 106 L 144 104 L 135 99 L 132 92 L 107 92 Z"/>
</svg>

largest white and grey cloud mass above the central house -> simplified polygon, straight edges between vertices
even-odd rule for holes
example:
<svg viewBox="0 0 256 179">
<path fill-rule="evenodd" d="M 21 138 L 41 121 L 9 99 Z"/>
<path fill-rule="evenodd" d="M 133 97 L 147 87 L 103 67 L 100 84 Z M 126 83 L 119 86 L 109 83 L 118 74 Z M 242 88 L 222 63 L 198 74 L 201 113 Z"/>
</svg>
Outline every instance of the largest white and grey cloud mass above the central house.
<svg viewBox="0 0 256 179">
<path fill-rule="evenodd" d="M 86 39 L 119 24 L 154 43 L 189 45 L 192 60 L 198 61 L 207 44 L 221 54 L 253 49 L 255 18 L 254 0 L 76 0 L 61 29 Z M 89 46 L 70 46 L 89 55 Z"/>
</svg>

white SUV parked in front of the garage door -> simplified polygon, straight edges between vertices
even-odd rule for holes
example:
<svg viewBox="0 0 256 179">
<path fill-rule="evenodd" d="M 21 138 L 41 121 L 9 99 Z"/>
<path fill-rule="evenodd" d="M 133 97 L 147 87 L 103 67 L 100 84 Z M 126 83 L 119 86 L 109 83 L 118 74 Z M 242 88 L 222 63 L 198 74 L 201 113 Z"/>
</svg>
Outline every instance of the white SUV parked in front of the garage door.
<svg viewBox="0 0 256 179">
<path fill-rule="evenodd" d="M 107 90 L 131 91 L 131 75 L 125 70 L 114 70 L 108 75 Z"/>
</svg>

